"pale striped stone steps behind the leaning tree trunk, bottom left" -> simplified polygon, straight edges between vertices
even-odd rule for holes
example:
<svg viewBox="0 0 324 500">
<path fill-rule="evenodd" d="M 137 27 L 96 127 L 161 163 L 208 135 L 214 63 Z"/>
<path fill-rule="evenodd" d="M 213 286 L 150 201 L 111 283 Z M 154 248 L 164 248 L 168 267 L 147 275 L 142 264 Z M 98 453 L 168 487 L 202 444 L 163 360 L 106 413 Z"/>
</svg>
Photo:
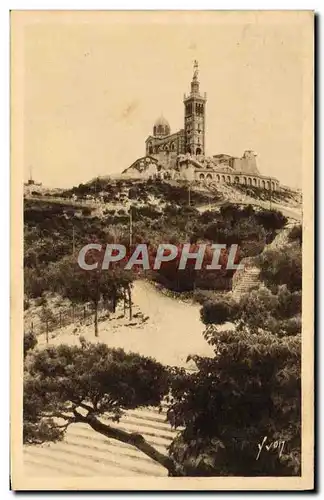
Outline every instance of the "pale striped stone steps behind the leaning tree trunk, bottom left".
<svg viewBox="0 0 324 500">
<path fill-rule="evenodd" d="M 105 423 L 105 418 L 100 418 Z M 177 434 L 166 422 L 166 407 L 129 410 L 118 424 L 143 435 L 161 453 Z M 134 446 L 108 439 L 86 424 L 72 424 L 63 441 L 24 446 L 25 474 L 34 477 L 167 476 L 167 470 Z"/>
</svg>

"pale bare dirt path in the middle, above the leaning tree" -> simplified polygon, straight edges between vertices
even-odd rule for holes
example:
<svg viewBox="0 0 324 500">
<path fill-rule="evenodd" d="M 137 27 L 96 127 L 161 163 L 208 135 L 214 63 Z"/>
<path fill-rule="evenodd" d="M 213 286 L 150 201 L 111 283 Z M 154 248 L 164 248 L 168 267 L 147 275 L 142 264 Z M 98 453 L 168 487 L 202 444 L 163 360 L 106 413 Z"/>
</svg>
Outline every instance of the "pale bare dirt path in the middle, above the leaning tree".
<svg viewBox="0 0 324 500">
<path fill-rule="evenodd" d="M 139 311 L 148 316 L 142 322 L 124 318 L 122 306 L 110 319 L 99 323 L 99 337 L 94 337 L 93 325 L 84 325 L 73 334 L 75 325 L 55 332 L 50 344 L 78 344 L 82 335 L 92 342 L 105 342 L 110 347 L 152 356 L 167 365 L 192 367 L 187 364 L 189 354 L 213 355 L 204 340 L 204 325 L 200 321 L 198 304 L 187 304 L 165 296 L 154 285 L 136 281 L 133 288 L 134 315 Z M 44 336 L 39 343 L 44 344 Z"/>
</svg>

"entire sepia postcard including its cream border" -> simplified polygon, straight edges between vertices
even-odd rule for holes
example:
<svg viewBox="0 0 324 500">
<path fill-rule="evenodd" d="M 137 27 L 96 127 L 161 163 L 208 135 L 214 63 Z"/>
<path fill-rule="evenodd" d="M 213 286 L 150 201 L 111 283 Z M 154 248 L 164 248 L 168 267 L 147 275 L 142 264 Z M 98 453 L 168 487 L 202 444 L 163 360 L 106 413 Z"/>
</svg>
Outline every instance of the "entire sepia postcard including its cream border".
<svg viewBox="0 0 324 500">
<path fill-rule="evenodd" d="M 314 487 L 313 44 L 11 12 L 13 490 Z"/>
</svg>

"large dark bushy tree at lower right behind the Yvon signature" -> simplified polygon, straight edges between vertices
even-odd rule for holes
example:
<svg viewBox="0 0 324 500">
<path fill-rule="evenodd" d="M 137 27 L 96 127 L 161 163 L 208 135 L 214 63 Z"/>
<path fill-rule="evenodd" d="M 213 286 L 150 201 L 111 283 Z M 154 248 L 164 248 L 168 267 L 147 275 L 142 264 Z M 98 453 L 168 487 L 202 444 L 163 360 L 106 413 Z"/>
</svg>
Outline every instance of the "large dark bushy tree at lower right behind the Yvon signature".
<svg viewBox="0 0 324 500">
<path fill-rule="evenodd" d="M 170 455 L 192 476 L 300 474 L 300 335 L 219 331 L 206 338 L 213 358 L 172 382 L 169 419 L 182 426 Z M 283 443 L 281 452 L 259 446 Z"/>
</svg>

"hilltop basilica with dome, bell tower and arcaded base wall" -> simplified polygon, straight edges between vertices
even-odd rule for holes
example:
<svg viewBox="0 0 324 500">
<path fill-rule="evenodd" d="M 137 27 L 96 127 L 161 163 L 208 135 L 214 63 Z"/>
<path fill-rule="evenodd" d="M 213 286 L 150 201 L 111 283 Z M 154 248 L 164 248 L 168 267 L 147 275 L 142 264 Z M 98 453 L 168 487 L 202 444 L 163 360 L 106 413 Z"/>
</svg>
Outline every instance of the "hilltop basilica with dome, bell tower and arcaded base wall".
<svg viewBox="0 0 324 500">
<path fill-rule="evenodd" d="M 172 133 L 168 121 L 163 116 L 158 118 L 153 134 L 145 141 L 145 156 L 134 161 L 123 175 L 203 184 L 238 183 L 278 190 L 277 179 L 260 175 L 254 151 L 244 151 L 241 158 L 227 154 L 205 156 L 206 102 L 206 93 L 200 92 L 195 61 L 191 90 L 183 99 L 184 128 Z"/>
</svg>

